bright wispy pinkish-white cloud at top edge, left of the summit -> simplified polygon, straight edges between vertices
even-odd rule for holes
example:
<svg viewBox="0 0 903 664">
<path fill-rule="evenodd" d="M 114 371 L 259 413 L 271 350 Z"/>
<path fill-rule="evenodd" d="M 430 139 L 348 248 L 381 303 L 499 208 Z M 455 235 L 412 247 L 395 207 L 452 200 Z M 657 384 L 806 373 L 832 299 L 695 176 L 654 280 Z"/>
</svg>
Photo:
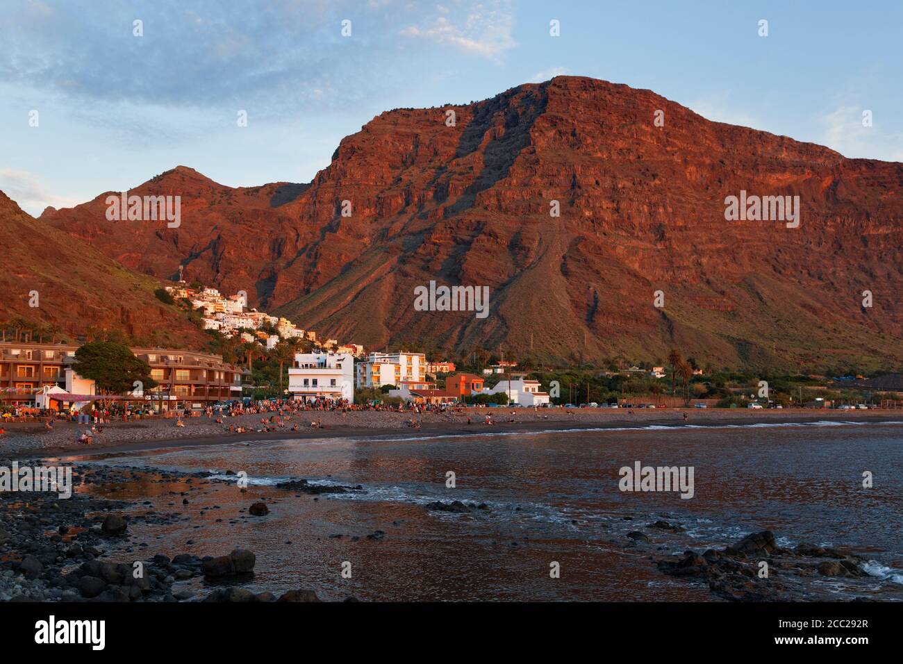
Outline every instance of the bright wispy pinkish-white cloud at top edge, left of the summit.
<svg viewBox="0 0 903 664">
<path fill-rule="evenodd" d="M 440 5 L 439 11 L 445 15 L 434 16 L 425 26 L 409 25 L 401 34 L 452 46 L 497 62 L 505 51 L 517 46 L 511 36 L 514 17 L 507 2 L 476 3 L 464 12 L 449 11 Z M 458 17 L 461 17 L 460 21 L 456 20 Z"/>
</svg>

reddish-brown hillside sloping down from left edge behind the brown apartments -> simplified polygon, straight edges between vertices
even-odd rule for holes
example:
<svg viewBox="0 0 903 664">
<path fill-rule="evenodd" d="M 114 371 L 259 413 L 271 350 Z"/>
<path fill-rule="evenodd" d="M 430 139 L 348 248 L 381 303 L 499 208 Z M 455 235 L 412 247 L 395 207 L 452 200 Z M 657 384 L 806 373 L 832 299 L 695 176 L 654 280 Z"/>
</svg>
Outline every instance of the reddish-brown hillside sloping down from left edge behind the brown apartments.
<svg viewBox="0 0 903 664">
<path fill-rule="evenodd" d="M 178 307 L 154 296 L 160 287 L 155 279 L 33 219 L 4 192 L 0 192 L 0 247 L 5 266 L 0 271 L 2 323 L 21 318 L 45 330 L 52 328 L 44 341 L 77 338 L 90 328 L 119 330 L 138 341 L 175 347 L 200 348 L 209 339 Z"/>
</svg>

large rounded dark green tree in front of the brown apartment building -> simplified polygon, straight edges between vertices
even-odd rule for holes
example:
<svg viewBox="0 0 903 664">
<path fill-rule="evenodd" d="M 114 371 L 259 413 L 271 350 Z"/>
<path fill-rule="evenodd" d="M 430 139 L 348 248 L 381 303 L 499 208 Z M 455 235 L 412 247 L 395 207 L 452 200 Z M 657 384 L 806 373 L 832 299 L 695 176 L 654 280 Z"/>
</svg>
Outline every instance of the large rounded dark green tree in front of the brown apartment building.
<svg viewBox="0 0 903 664">
<path fill-rule="evenodd" d="M 98 392 L 105 397 L 133 391 L 136 381 L 145 391 L 157 386 L 147 362 L 136 358 L 128 346 L 116 341 L 90 341 L 79 347 L 72 369 L 82 378 L 93 380 Z M 101 399 L 101 402 L 106 400 Z"/>
</svg>

